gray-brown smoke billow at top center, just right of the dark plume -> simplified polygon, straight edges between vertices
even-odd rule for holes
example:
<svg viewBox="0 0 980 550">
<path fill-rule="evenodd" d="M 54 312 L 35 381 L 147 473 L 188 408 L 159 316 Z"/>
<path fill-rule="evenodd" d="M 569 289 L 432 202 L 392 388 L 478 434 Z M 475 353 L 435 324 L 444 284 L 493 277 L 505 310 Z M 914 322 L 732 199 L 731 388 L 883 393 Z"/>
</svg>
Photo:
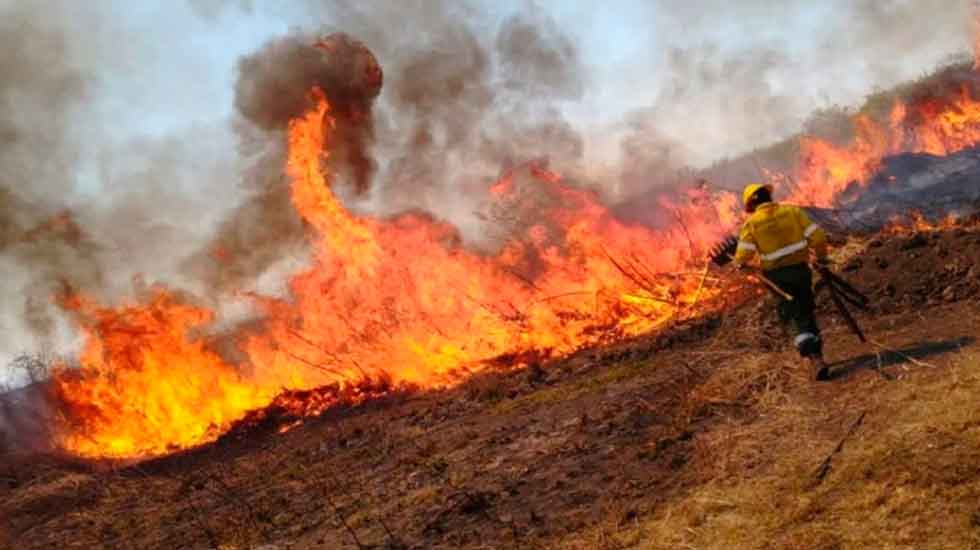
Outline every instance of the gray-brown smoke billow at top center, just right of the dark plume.
<svg viewBox="0 0 980 550">
<path fill-rule="evenodd" d="M 378 202 L 387 212 L 420 207 L 465 225 L 473 198 L 501 170 L 531 159 L 579 168 L 582 137 L 561 106 L 583 97 L 585 74 L 575 43 L 542 13 L 513 15 L 487 37 L 484 15 L 439 11 L 408 55 L 390 58 L 386 120 L 407 131 L 382 144 L 392 160 Z M 406 33 L 378 48 L 412 42 Z"/>
</svg>

